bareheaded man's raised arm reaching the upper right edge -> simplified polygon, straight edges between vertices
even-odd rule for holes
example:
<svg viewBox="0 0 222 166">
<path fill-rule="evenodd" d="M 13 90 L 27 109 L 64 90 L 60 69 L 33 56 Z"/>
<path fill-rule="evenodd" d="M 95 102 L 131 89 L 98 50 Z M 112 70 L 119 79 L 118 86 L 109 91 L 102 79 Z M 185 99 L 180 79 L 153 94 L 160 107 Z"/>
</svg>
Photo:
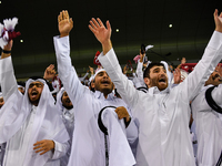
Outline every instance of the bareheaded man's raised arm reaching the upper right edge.
<svg viewBox="0 0 222 166">
<path fill-rule="evenodd" d="M 222 13 L 218 15 L 218 10 L 214 11 L 215 31 L 211 37 L 208 46 L 205 48 L 202 59 L 196 64 L 195 69 L 178 87 L 186 91 L 188 100 L 191 101 L 200 92 L 210 74 L 222 59 Z M 183 95 L 185 97 L 185 95 Z"/>
</svg>

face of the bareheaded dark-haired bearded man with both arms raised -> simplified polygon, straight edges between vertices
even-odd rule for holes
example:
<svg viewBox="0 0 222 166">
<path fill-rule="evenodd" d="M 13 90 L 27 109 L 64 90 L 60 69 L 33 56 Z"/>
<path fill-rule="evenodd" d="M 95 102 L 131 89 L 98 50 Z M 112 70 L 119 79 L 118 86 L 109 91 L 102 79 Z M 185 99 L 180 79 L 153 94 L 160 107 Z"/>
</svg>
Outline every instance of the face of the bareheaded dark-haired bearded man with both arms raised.
<svg viewBox="0 0 222 166">
<path fill-rule="evenodd" d="M 154 65 L 150 69 L 149 76 L 144 77 L 148 87 L 158 86 L 160 91 L 168 87 L 168 74 L 162 65 Z"/>
</svg>

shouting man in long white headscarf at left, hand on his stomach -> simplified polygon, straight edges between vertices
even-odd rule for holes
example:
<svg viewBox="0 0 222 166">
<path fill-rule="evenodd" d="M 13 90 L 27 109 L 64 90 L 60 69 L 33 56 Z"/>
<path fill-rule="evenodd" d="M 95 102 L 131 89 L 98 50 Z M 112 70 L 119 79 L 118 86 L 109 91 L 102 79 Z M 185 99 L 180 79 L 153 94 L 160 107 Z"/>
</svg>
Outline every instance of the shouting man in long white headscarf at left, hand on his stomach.
<svg viewBox="0 0 222 166">
<path fill-rule="evenodd" d="M 69 148 L 65 126 L 43 79 L 27 81 L 24 95 L 18 90 L 10 51 L 4 46 L 0 80 L 4 106 L 0 112 L 0 143 L 7 143 L 4 166 L 59 166 Z"/>
</svg>

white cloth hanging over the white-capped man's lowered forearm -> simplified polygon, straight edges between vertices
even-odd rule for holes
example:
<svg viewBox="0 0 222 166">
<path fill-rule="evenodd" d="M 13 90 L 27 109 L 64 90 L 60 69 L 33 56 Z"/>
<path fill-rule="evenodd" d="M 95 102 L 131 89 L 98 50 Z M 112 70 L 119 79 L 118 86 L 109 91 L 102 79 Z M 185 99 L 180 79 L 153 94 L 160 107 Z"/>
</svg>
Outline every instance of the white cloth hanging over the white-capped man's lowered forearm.
<svg viewBox="0 0 222 166">
<path fill-rule="evenodd" d="M 108 107 L 102 113 L 102 122 L 108 128 L 109 166 L 132 166 L 133 154 L 125 136 L 123 120 L 119 120 L 114 108 Z"/>
</svg>

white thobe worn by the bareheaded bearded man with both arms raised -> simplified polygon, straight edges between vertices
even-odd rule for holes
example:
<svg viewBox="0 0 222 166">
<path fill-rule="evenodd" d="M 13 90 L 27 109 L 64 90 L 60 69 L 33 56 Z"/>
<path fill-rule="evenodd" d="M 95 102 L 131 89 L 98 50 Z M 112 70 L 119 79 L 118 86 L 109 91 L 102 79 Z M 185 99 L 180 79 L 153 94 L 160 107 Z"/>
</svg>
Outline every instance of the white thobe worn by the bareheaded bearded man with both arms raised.
<svg viewBox="0 0 222 166">
<path fill-rule="evenodd" d="M 195 70 L 178 86 L 139 92 L 125 79 L 113 49 L 99 61 L 139 121 L 138 166 L 194 166 L 190 138 L 190 101 L 221 60 L 222 33 L 214 32 Z"/>
</svg>

